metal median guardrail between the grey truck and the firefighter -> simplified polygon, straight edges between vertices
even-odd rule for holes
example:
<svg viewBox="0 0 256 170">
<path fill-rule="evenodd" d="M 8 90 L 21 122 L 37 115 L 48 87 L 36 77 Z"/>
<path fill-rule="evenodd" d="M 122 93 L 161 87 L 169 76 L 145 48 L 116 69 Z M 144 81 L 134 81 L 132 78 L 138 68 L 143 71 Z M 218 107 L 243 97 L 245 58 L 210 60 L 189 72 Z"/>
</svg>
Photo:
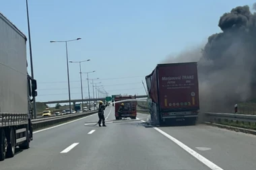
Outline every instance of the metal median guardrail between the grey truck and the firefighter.
<svg viewBox="0 0 256 170">
<path fill-rule="evenodd" d="M 85 112 L 81 114 L 69 114 L 64 116 L 54 116 L 50 118 L 40 118 L 32 120 L 33 130 L 39 130 L 41 128 L 45 128 L 48 126 L 53 126 L 56 124 L 60 124 L 63 122 L 75 120 L 77 118 L 82 118 L 84 116 L 90 116 L 92 114 L 96 114 L 98 111 Z"/>
</svg>

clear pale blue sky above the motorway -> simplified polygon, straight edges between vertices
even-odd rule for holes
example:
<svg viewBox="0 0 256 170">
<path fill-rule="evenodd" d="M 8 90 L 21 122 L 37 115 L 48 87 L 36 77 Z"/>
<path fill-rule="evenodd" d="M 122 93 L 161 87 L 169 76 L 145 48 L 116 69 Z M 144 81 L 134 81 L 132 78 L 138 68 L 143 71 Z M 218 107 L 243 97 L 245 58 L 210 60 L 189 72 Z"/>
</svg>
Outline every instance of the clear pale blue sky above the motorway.
<svg viewBox="0 0 256 170">
<path fill-rule="evenodd" d="M 220 32 L 220 16 L 251 0 L 28 0 L 37 101 L 68 99 L 68 56 L 109 95 L 145 95 L 141 81 L 167 57 Z M 0 0 L 3 13 L 28 37 L 25 0 Z M 28 46 L 28 43 L 27 43 Z M 30 65 L 29 48 L 27 50 Z M 30 73 L 30 67 L 28 67 Z M 127 78 L 129 77 L 129 78 Z M 69 64 L 71 99 L 81 99 L 79 64 Z M 82 74 L 84 98 L 88 82 Z M 90 96 L 93 96 L 90 80 Z"/>
</svg>

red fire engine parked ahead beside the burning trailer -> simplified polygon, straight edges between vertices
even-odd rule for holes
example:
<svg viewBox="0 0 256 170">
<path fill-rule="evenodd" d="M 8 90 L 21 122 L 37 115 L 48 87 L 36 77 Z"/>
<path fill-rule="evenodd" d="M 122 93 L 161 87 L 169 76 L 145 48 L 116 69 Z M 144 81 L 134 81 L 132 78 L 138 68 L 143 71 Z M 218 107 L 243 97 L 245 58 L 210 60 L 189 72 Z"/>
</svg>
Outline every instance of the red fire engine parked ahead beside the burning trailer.
<svg viewBox="0 0 256 170">
<path fill-rule="evenodd" d="M 115 102 L 117 102 L 117 103 L 115 103 L 116 120 L 121 120 L 122 118 L 136 119 L 137 101 L 135 99 L 136 99 L 136 95 L 128 95 L 128 96 L 116 95 L 115 96 Z M 123 101 L 123 100 L 127 100 L 127 101 Z M 121 101 L 121 102 L 118 102 L 118 101 Z M 124 110 L 121 113 L 121 115 L 119 115 L 118 111 L 119 111 L 121 103 L 124 103 Z"/>
</svg>

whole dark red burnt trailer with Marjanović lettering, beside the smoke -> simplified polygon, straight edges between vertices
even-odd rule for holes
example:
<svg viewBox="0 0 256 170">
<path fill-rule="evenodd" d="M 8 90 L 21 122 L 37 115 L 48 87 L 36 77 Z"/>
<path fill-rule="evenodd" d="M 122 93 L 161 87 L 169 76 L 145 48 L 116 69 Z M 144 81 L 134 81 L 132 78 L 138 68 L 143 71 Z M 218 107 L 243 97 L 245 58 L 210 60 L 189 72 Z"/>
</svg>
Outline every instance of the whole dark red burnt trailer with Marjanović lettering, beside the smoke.
<svg viewBox="0 0 256 170">
<path fill-rule="evenodd" d="M 146 76 L 153 124 L 189 122 L 199 113 L 197 62 L 159 64 Z"/>
</svg>

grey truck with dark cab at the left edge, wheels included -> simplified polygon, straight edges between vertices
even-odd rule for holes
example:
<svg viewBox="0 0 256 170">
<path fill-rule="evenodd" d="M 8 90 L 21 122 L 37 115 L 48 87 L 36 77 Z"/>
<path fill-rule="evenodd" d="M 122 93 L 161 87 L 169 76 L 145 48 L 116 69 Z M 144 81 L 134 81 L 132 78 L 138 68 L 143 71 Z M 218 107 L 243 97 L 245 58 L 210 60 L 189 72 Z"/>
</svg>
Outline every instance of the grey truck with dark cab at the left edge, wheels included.
<svg viewBox="0 0 256 170">
<path fill-rule="evenodd" d="M 0 161 L 33 140 L 36 80 L 28 75 L 26 36 L 0 13 Z"/>
</svg>

